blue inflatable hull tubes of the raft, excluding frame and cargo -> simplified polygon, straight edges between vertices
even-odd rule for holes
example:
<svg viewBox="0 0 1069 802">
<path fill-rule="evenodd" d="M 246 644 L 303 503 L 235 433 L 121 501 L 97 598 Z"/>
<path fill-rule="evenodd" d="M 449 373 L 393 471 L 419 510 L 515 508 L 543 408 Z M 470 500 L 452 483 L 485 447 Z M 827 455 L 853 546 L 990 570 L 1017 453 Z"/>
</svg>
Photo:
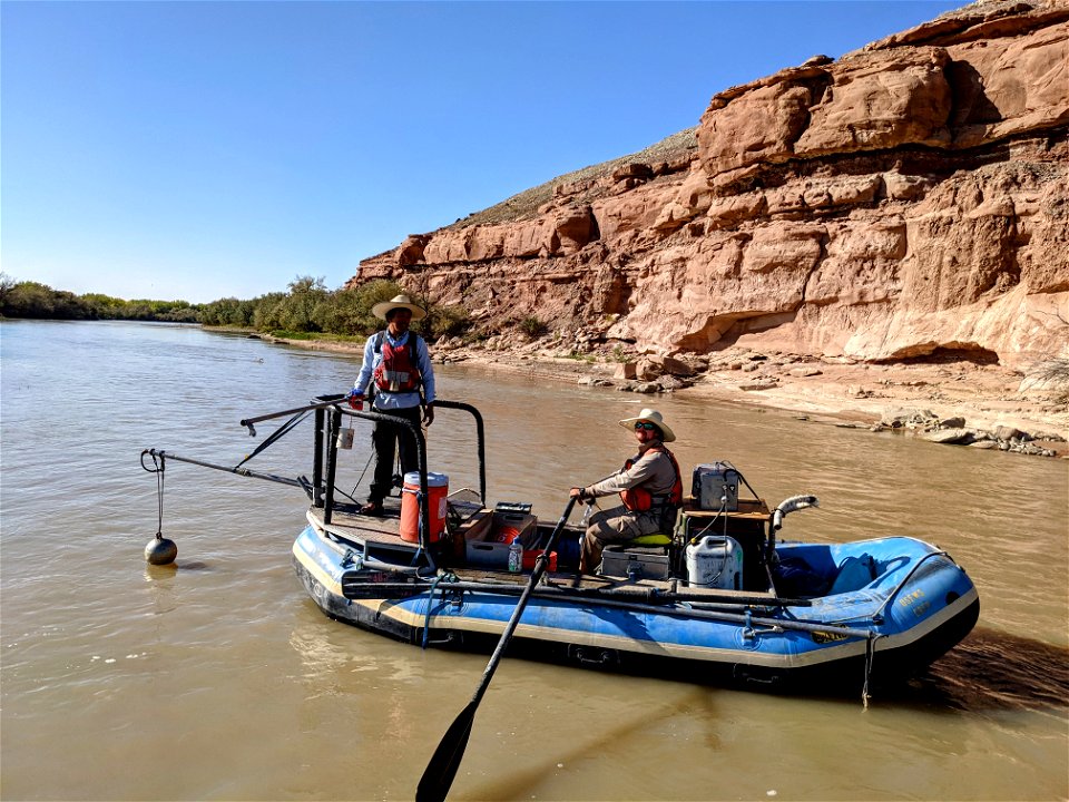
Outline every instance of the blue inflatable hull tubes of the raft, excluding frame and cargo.
<svg viewBox="0 0 1069 802">
<path fill-rule="evenodd" d="M 683 521 L 688 517 L 685 508 Z M 316 604 L 333 618 L 413 644 L 492 646 L 529 579 L 529 571 L 462 560 L 429 570 L 416 549 L 408 559 L 396 548 L 383 549 L 377 530 L 361 535 L 360 525 L 324 525 L 315 509 L 308 519 L 293 563 Z M 737 521 L 724 519 L 730 532 Z M 537 545 L 549 528 L 539 525 L 531 541 Z M 753 527 L 734 534 L 745 539 Z M 913 538 L 777 542 L 771 550 L 768 538 L 757 538 L 743 551 L 763 563 L 765 570 L 751 575 L 768 581 L 736 589 L 688 586 L 671 565 L 670 545 L 664 555 L 645 546 L 625 550 L 621 559 L 607 559 L 602 573 L 579 576 L 569 554 L 577 554 L 580 535 L 565 531 L 557 570 L 533 588 L 510 654 L 766 687 L 861 687 L 923 669 L 968 635 L 979 615 L 965 571 Z M 666 565 L 668 576 L 605 573 L 610 563 Z M 699 665 L 680 674 L 669 667 L 678 661 Z"/>
</svg>

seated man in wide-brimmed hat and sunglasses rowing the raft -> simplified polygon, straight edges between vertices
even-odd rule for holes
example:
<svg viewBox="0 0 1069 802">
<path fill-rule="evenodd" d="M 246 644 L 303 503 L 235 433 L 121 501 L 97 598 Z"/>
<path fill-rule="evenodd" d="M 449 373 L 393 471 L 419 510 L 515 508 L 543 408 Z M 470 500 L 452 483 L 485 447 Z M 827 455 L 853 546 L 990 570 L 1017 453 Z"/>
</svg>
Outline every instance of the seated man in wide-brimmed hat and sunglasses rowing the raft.
<svg viewBox="0 0 1069 802">
<path fill-rule="evenodd" d="M 638 453 L 607 479 L 570 495 L 580 501 L 619 493 L 622 503 L 590 516 L 582 538 L 579 570 L 592 574 L 601 563 L 607 544 L 626 542 L 643 535 L 669 534 L 676 526 L 676 512 L 683 503 L 683 477 L 675 456 L 665 448 L 676 439 L 657 410 L 644 409 L 637 418 L 620 421 L 634 429 Z"/>
</svg>

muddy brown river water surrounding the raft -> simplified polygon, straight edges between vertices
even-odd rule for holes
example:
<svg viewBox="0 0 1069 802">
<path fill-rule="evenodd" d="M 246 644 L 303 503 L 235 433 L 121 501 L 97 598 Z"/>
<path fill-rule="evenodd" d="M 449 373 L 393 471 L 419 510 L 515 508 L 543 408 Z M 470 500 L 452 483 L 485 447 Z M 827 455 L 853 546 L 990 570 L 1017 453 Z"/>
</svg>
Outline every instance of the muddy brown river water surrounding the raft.
<svg viewBox="0 0 1069 802">
<path fill-rule="evenodd" d="M 355 359 L 196 327 L 4 322 L 0 679 L 4 800 L 404 800 L 484 655 L 423 652 L 327 619 L 290 566 L 294 488 L 235 464 L 242 418 L 343 391 Z M 481 409 L 491 501 L 556 519 L 610 472 L 616 421 L 651 403 L 479 368 L 438 370 Z M 914 535 L 973 577 L 973 634 L 901 691 L 776 696 L 506 658 L 457 800 L 1056 800 L 1069 796 L 1069 464 L 790 413 L 660 398 L 684 470 L 732 461 L 771 503 L 815 492 L 788 538 Z M 455 413 L 454 413 L 455 414 Z M 432 470 L 478 487 L 470 424 L 429 433 Z M 311 426 L 253 460 L 310 473 Z M 342 482 L 366 485 L 366 432 Z M 357 492 L 360 492 L 357 490 Z M 362 496 L 359 496 L 362 498 Z"/>
</svg>

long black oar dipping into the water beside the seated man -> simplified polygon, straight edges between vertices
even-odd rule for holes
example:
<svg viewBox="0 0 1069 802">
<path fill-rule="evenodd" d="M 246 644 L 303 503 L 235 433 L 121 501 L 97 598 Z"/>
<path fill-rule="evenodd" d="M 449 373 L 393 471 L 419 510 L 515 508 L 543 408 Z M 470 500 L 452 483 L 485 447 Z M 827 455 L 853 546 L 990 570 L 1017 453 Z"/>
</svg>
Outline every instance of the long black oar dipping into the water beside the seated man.
<svg viewBox="0 0 1069 802">
<path fill-rule="evenodd" d="M 498 668 L 498 663 L 501 662 L 501 656 L 504 654 L 509 640 L 512 639 L 512 633 L 516 632 L 516 627 L 520 623 L 520 616 L 523 615 L 523 608 L 527 607 L 531 591 L 534 589 L 534 586 L 538 585 L 538 580 L 542 578 L 542 574 L 546 573 L 546 566 L 549 565 L 548 555 L 557 545 L 560 531 L 565 528 L 565 522 L 568 520 L 568 516 L 571 515 L 571 508 L 575 503 L 575 498 L 568 500 L 568 506 L 565 507 L 563 515 L 561 515 L 560 520 L 557 521 L 557 528 L 553 529 L 553 534 L 549 536 L 549 542 L 546 544 L 545 550 L 534 561 L 534 570 L 531 571 L 531 578 L 527 583 L 527 588 L 524 588 L 519 602 L 516 603 L 512 617 L 509 618 L 504 632 L 501 633 L 501 639 L 498 640 L 498 646 L 493 649 L 490 662 L 487 663 L 487 668 L 482 673 L 482 682 L 480 682 L 479 687 L 475 688 L 471 702 L 468 703 L 468 706 L 460 712 L 460 715 L 457 716 L 449 730 L 445 731 L 445 735 L 442 736 L 441 743 L 439 743 L 438 749 L 434 750 L 430 763 L 428 763 L 426 769 L 423 770 L 423 776 L 420 779 L 420 784 L 415 789 L 416 802 L 442 802 L 449 793 L 449 788 L 453 784 L 453 777 L 457 776 L 460 762 L 464 759 L 464 750 L 468 747 L 468 739 L 471 735 L 471 725 L 475 720 L 475 711 L 479 710 L 479 703 L 482 701 L 482 696 L 487 692 L 490 681 L 493 678 L 493 673 Z"/>
</svg>

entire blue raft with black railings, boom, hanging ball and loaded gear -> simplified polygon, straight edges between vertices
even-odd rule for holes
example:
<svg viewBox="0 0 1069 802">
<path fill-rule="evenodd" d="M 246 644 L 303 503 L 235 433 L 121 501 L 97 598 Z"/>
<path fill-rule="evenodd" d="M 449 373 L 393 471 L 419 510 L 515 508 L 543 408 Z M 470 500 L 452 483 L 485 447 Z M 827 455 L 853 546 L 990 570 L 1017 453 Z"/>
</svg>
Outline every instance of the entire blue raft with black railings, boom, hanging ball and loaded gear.
<svg viewBox="0 0 1069 802">
<path fill-rule="evenodd" d="M 255 434 L 255 424 L 292 415 L 236 467 L 155 449 L 141 453 L 141 464 L 160 475 L 160 493 L 166 460 L 303 489 L 311 507 L 293 564 L 315 603 L 333 618 L 424 647 L 482 649 L 500 640 L 510 655 L 667 669 L 695 681 L 869 687 L 922 671 L 979 616 L 975 587 L 938 547 L 909 537 L 784 542 L 785 516 L 816 498 L 769 510 L 723 462 L 695 469 L 671 531 L 607 549 L 596 574 L 580 575 L 582 526 L 567 522 L 575 502 L 556 526 L 527 505 L 489 507 L 482 417 L 460 402 L 435 405 L 474 418 L 478 490 L 449 492 L 448 478 L 428 473 L 418 426 L 351 410 L 342 395 L 243 420 Z M 310 413 L 311 479 L 244 467 Z M 336 487 L 337 450 L 351 444 L 341 437 L 345 417 L 408 427 L 416 440 L 419 471 L 386 499 L 383 516 L 361 515 Z M 741 486 L 753 498 L 739 498 Z M 174 559 L 173 544 L 157 534 L 146 557 Z"/>
</svg>

